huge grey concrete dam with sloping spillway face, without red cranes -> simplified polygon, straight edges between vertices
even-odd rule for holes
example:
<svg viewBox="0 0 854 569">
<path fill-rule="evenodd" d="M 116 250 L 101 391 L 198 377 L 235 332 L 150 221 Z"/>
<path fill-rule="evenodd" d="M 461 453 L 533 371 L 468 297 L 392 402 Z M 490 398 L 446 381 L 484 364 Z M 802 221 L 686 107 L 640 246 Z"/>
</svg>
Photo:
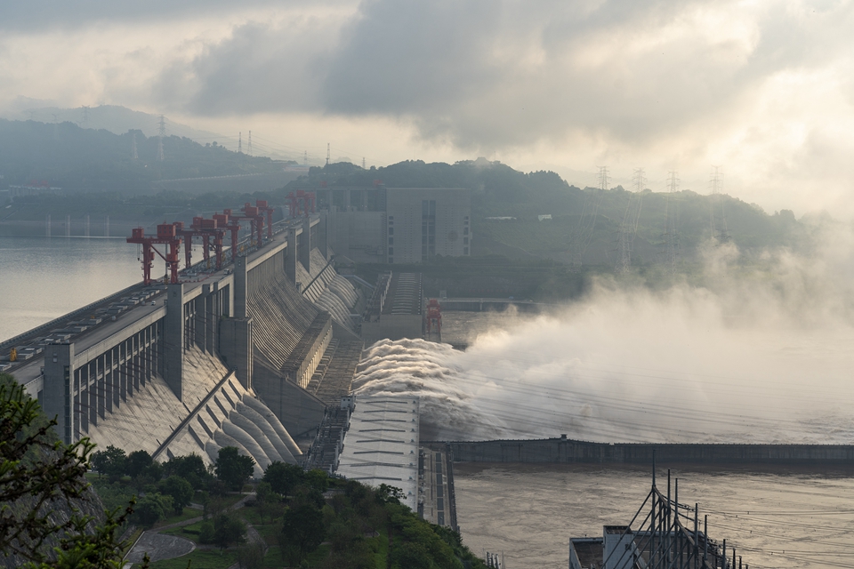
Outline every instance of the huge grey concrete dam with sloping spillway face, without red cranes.
<svg viewBox="0 0 854 569">
<path fill-rule="evenodd" d="M 287 220 L 221 270 L 139 284 L 5 341 L 18 353 L 6 371 L 67 443 L 208 462 L 237 446 L 256 475 L 296 463 L 362 349 L 350 314 L 364 301 L 336 273 L 325 223 Z"/>
</svg>

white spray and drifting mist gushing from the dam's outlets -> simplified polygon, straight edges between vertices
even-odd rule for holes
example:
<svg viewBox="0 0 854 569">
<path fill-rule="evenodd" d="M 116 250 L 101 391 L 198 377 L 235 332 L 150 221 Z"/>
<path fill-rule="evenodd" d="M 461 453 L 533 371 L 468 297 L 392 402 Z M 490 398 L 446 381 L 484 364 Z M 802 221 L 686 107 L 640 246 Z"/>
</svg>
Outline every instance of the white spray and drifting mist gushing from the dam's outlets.
<svg viewBox="0 0 854 569">
<path fill-rule="evenodd" d="M 716 248 L 705 287 L 600 282 L 465 352 L 380 341 L 354 386 L 421 396 L 424 438 L 850 444 L 854 238 L 834 244 L 766 254 L 761 269 Z"/>
</svg>

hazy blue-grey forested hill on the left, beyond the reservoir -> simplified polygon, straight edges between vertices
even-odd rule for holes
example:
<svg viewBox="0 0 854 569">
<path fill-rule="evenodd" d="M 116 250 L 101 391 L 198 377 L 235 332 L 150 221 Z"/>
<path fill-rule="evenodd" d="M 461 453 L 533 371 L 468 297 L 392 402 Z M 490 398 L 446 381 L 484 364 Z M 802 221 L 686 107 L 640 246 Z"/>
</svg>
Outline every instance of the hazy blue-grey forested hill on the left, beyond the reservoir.
<svg viewBox="0 0 854 569">
<path fill-rule="evenodd" d="M 284 165 L 216 142 L 201 145 L 177 136 L 164 137 L 161 162 L 157 146 L 157 137 L 147 138 L 141 131 L 114 134 L 68 122 L 0 119 L 0 184 L 5 188 L 44 180 L 67 190 L 133 195 L 148 192 L 157 180 L 281 172 Z"/>
</svg>

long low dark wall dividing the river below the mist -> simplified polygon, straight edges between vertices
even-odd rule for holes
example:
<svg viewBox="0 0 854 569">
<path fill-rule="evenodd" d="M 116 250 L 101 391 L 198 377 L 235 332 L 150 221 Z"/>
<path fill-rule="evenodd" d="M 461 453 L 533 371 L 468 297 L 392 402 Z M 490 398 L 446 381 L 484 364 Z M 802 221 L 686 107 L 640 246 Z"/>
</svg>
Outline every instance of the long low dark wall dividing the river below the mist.
<svg viewBox="0 0 854 569">
<path fill-rule="evenodd" d="M 568 464 L 854 466 L 854 445 L 591 443 L 566 437 L 447 443 L 454 461 Z"/>
</svg>

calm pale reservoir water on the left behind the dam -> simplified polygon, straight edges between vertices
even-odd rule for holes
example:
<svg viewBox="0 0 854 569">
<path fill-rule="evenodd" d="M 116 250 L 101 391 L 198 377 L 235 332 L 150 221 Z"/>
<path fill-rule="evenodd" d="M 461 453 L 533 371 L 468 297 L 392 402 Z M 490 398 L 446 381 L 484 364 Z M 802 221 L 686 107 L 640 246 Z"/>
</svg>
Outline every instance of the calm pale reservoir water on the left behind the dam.
<svg viewBox="0 0 854 569">
<path fill-rule="evenodd" d="M 141 280 L 124 238 L 0 237 L 0 341 Z"/>
</svg>

